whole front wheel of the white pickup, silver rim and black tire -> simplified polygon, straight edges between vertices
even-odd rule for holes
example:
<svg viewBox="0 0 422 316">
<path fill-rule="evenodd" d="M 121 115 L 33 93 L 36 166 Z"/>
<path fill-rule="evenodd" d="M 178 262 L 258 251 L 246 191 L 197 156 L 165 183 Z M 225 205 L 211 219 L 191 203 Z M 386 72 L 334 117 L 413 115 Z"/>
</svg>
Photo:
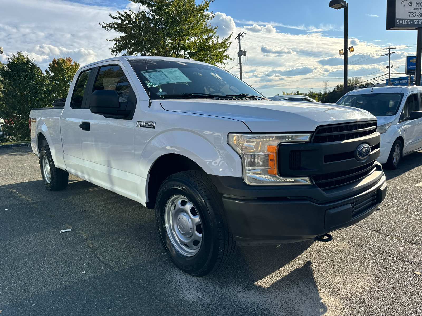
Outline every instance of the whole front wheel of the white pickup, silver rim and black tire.
<svg viewBox="0 0 422 316">
<path fill-rule="evenodd" d="M 233 257 L 235 240 L 221 198 L 203 172 L 183 171 L 165 179 L 155 206 L 161 243 L 179 269 L 205 276 Z"/>
</svg>

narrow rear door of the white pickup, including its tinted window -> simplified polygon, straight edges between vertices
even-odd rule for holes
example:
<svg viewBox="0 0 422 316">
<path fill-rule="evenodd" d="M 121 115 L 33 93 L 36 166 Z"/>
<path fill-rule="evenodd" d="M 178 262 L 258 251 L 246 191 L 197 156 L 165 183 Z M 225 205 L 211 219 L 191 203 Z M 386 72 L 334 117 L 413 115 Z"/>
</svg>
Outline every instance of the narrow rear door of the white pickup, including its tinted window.
<svg viewBox="0 0 422 316">
<path fill-rule="evenodd" d="M 78 75 L 76 84 L 73 87 L 70 105 L 66 104 L 63 109 L 60 129 L 62 135 L 64 160 L 66 170 L 70 174 L 85 179 L 84 177 L 84 159 L 81 147 L 81 128 L 80 117 L 81 112 L 87 101 L 90 80 L 92 80 L 92 69 L 84 70 Z"/>
</svg>

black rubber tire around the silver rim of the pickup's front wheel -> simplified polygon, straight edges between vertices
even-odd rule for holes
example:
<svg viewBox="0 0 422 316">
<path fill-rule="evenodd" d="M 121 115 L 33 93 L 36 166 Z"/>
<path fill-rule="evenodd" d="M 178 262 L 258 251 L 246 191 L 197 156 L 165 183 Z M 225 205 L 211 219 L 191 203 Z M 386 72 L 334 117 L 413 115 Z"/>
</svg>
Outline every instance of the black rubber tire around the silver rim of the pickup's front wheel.
<svg viewBox="0 0 422 316">
<path fill-rule="evenodd" d="M 197 251 L 197 253 L 190 256 L 184 255 L 176 248 L 179 247 L 180 249 L 181 246 L 177 245 L 174 237 L 173 241 L 171 240 L 171 236 L 175 236 L 176 233 L 173 233 L 171 228 L 169 232 L 166 227 L 166 207 L 168 203 L 173 201 L 174 197 L 178 196 L 183 196 L 188 202 L 190 201 L 193 212 L 196 209 L 196 214 L 200 220 L 202 237 L 199 249 L 192 250 L 192 252 Z M 170 205 L 170 210 L 174 211 L 173 205 L 176 205 L 176 202 Z M 207 174 L 200 171 L 183 171 L 171 175 L 160 186 L 155 206 L 155 218 L 161 243 L 170 260 L 179 269 L 192 276 L 205 276 L 224 266 L 233 257 L 236 246 L 235 240 L 227 225 L 221 196 Z M 176 208 L 176 206 L 174 207 Z M 189 212 L 192 213 L 192 209 Z M 179 213 L 179 216 L 180 214 L 182 213 Z M 176 225 L 177 227 L 178 225 Z M 169 236 L 169 233 L 171 236 Z M 187 244 L 184 245 L 188 246 Z M 193 245 L 197 246 L 195 241 Z M 189 249 L 186 251 L 189 251 Z"/>
</svg>

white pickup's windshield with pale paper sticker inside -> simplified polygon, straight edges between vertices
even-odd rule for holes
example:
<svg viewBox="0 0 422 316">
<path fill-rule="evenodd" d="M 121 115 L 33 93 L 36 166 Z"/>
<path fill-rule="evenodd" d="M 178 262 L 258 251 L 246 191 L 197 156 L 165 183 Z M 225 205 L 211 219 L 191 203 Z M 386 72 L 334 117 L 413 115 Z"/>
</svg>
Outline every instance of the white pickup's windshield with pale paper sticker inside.
<svg viewBox="0 0 422 316">
<path fill-rule="evenodd" d="M 162 59 L 132 59 L 129 63 L 149 97 L 155 100 L 182 94 L 262 96 L 229 72 L 211 65 Z"/>
</svg>

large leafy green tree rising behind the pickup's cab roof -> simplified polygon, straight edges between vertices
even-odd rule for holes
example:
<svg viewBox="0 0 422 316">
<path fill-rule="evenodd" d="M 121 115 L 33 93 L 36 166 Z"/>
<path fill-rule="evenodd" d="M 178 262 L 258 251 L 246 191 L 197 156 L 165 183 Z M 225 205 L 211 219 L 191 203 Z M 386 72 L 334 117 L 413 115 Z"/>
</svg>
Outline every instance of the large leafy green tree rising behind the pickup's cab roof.
<svg viewBox="0 0 422 316">
<path fill-rule="evenodd" d="M 108 39 L 114 43 L 110 48 L 114 56 L 143 53 L 226 64 L 232 35 L 222 40 L 216 35 L 217 27 L 210 24 L 214 15 L 208 12 L 212 1 L 196 5 L 195 0 L 133 0 L 148 10 L 116 11 L 116 15 L 110 14 L 114 22 L 100 25 L 108 32 L 123 33 Z"/>
</svg>

